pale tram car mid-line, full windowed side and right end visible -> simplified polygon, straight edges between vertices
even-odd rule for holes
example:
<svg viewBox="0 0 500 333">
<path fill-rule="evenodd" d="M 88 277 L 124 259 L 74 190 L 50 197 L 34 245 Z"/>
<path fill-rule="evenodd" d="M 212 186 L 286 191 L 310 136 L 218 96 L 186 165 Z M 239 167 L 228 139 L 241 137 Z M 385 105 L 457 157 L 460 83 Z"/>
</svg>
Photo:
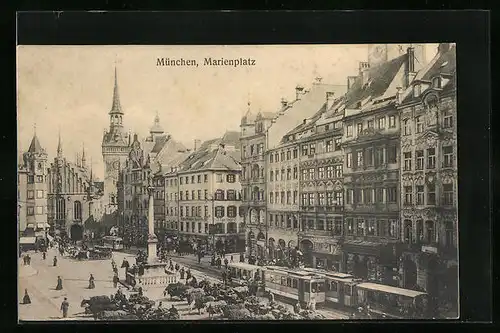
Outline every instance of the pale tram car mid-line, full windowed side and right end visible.
<svg viewBox="0 0 500 333">
<path fill-rule="evenodd" d="M 325 302 L 325 279 L 313 272 L 267 266 L 264 271 L 266 289 L 302 304 Z"/>
</svg>

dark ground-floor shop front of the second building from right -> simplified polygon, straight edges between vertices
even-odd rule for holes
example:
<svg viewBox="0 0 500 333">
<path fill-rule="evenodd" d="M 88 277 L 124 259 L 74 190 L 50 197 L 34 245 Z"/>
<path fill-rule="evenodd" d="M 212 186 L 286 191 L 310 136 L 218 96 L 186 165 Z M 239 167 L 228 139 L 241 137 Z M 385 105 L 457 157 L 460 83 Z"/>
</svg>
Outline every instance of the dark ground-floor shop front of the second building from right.
<svg viewBox="0 0 500 333">
<path fill-rule="evenodd" d="M 345 271 L 365 281 L 398 285 L 398 261 L 395 245 L 368 241 L 343 244 Z"/>
</svg>

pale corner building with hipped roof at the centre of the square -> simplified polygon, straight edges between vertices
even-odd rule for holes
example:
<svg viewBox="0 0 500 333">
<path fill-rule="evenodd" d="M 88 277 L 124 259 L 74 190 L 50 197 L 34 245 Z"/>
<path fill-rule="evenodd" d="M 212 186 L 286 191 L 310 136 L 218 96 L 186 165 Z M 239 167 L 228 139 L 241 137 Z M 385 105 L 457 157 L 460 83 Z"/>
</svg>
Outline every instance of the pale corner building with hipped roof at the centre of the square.
<svg viewBox="0 0 500 333">
<path fill-rule="evenodd" d="M 240 156 L 239 133 L 226 132 L 180 163 L 176 193 L 181 241 L 226 253 L 245 250 Z"/>
</svg>

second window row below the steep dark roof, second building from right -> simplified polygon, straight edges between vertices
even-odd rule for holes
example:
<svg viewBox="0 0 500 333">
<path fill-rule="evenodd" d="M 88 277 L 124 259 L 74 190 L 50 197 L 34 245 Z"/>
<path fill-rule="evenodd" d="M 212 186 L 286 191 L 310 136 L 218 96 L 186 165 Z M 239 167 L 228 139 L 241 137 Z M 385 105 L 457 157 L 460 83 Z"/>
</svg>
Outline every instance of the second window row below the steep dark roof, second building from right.
<svg viewBox="0 0 500 333">
<path fill-rule="evenodd" d="M 389 145 L 387 147 L 370 147 L 359 149 L 353 153 L 346 154 L 347 168 L 378 167 L 385 164 L 397 163 L 397 147 Z"/>
</svg>

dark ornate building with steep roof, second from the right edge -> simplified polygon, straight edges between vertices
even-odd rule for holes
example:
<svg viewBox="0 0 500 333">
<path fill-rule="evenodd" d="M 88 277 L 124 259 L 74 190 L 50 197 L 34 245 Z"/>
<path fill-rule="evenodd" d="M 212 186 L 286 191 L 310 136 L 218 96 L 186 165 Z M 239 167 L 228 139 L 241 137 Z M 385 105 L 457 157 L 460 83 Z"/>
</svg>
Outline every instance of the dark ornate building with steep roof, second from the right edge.
<svg viewBox="0 0 500 333">
<path fill-rule="evenodd" d="M 400 122 L 397 94 L 415 77 L 414 51 L 375 66 L 360 63 L 344 116 L 346 271 L 397 284 L 400 253 Z"/>
</svg>

